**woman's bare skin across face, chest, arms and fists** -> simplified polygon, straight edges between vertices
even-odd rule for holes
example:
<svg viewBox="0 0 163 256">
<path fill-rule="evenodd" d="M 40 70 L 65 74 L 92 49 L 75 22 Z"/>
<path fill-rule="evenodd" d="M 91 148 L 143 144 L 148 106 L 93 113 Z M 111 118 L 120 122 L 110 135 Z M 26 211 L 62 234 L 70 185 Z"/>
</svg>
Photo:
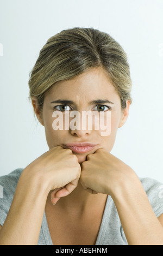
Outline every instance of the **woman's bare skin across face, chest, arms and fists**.
<svg viewBox="0 0 163 256">
<path fill-rule="evenodd" d="M 89 104 L 92 100 L 110 100 L 114 104 L 105 105 L 111 108 L 107 110 L 111 111 L 111 134 L 101 136 L 101 130 L 95 129 L 54 130 L 52 114 L 59 104 L 51 102 L 58 99 L 72 100 L 70 108 L 81 113 L 96 108 L 97 104 Z M 120 97 L 104 70 L 93 68 L 77 78 L 58 82 L 46 94 L 42 110 L 35 97 L 32 103 L 45 127 L 49 151 L 23 170 L 0 231 L 0 244 L 37 244 L 46 210 L 55 245 L 86 242 L 93 245 L 96 237 L 92 234 L 98 234 L 106 198 L 110 195 L 129 245 L 163 245 L 163 215 L 156 218 L 134 170 L 110 153 L 117 129 L 127 120 L 130 102 L 126 109 L 121 109 Z M 97 145 L 87 153 L 74 153 L 64 146 L 81 141 Z M 93 227 L 88 216 L 95 223 Z M 70 219 L 73 224 L 68 226 Z M 84 230 L 89 230 L 90 235 Z"/>
</svg>

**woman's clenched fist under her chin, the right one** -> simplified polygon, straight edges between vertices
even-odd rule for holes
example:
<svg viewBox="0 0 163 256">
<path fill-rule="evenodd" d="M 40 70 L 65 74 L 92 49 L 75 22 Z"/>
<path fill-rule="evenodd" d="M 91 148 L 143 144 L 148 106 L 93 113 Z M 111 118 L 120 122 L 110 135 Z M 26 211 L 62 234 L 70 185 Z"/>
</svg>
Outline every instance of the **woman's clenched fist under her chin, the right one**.
<svg viewBox="0 0 163 256">
<path fill-rule="evenodd" d="M 87 155 L 82 163 L 80 183 L 92 194 L 103 193 L 112 195 L 134 171 L 120 159 L 103 148 Z"/>
</svg>

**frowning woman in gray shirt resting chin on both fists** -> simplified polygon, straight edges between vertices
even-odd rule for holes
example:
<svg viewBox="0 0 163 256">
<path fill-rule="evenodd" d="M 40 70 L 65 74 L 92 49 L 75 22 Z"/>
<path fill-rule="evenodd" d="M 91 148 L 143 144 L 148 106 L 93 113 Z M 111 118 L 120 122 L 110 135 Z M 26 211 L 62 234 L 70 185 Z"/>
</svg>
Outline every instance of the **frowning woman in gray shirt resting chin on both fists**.
<svg viewBox="0 0 163 256">
<path fill-rule="evenodd" d="M 62 31 L 40 51 L 29 88 L 49 151 L 1 177 L 0 244 L 163 245 L 162 185 L 110 153 L 131 103 L 122 47 L 93 28 Z M 85 111 L 95 111 L 91 128 L 80 126 Z M 95 129 L 102 121 L 109 134 Z"/>
</svg>

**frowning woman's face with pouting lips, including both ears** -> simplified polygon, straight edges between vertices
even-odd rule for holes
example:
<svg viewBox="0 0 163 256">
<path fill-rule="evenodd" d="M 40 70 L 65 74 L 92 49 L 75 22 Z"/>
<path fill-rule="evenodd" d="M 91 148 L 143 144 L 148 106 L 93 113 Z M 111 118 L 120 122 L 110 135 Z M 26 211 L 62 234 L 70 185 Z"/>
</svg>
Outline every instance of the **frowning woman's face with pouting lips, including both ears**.
<svg viewBox="0 0 163 256">
<path fill-rule="evenodd" d="M 55 84 L 45 96 L 42 114 L 33 98 L 37 118 L 45 126 L 49 149 L 57 145 L 71 148 L 73 154 L 78 157 L 79 163 L 84 162 L 87 154 L 94 153 L 98 148 L 111 151 L 117 128 L 123 126 L 127 120 L 129 104 L 130 102 L 127 102 L 127 108 L 122 111 L 120 97 L 102 68 L 92 68 L 76 78 Z M 79 113 L 78 117 L 69 118 L 72 111 Z M 105 124 L 111 128 L 110 133 L 103 133 L 105 134 L 103 135 L 100 124 L 99 128 L 95 129 L 98 119 L 94 121 L 93 118 L 92 127 L 87 121 L 85 128 L 82 128 L 82 122 L 84 122 L 82 116 L 84 117 L 86 111 L 90 113 L 96 111 L 97 114 L 103 112 L 100 121 L 105 120 Z M 60 119 L 55 114 L 59 114 Z M 98 118 L 97 116 L 96 118 Z M 54 120 L 57 121 L 57 117 L 58 123 L 54 122 Z M 66 120 L 68 120 L 68 124 L 72 123 L 73 127 L 68 125 L 68 128 L 65 129 L 65 123 L 67 126 L 65 117 L 68 117 Z M 58 130 L 54 128 L 54 123 L 58 125 Z M 59 126 L 59 124 L 63 124 L 63 126 Z"/>
</svg>

